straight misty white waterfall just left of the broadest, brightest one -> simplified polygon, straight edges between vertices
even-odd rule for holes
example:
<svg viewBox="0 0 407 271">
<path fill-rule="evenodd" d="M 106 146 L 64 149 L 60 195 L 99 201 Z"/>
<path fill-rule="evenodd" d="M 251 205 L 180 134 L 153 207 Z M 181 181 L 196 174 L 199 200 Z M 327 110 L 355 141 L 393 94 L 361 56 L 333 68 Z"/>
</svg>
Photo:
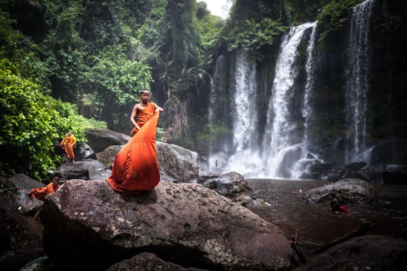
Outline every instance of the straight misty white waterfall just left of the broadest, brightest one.
<svg viewBox="0 0 407 271">
<path fill-rule="evenodd" d="M 261 165 L 257 146 L 256 67 L 249 63 L 247 52 L 236 52 L 234 86 L 233 141 L 236 154 L 229 159 L 228 171 L 243 174 Z"/>
</svg>

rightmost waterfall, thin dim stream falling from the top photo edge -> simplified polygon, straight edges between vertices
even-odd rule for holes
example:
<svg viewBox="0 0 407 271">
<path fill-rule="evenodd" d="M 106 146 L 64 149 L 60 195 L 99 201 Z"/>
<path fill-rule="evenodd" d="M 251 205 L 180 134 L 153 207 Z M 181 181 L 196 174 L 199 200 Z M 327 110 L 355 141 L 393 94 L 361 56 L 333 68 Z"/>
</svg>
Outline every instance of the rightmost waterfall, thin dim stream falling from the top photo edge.
<svg viewBox="0 0 407 271">
<path fill-rule="evenodd" d="M 346 125 L 347 161 L 355 159 L 366 146 L 366 111 L 369 91 L 370 39 L 369 30 L 374 0 L 367 0 L 351 12 L 349 42 L 347 44 Z"/>
</svg>

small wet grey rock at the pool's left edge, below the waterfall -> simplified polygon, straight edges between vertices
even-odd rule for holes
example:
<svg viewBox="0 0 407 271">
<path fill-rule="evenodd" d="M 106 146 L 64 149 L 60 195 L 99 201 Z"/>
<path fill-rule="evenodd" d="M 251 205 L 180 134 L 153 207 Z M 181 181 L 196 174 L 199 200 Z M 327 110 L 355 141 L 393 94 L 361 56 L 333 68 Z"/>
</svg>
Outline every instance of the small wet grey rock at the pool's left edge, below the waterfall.
<svg viewBox="0 0 407 271">
<path fill-rule="evenodd" d="M 237 172 L 229 172 L 218 178 L 209 179 L 203 183 L 203 186 L 228 198 L 251 194 L 251 188 L 247 185 L 245 177 Z"/>
</svg>

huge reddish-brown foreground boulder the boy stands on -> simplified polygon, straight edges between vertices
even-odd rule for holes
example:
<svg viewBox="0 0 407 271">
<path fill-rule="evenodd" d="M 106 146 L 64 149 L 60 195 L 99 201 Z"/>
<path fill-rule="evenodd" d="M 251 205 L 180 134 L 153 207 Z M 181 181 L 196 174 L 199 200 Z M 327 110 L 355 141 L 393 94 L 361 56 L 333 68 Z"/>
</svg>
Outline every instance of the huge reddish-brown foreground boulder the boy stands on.
<svg viewBox="0 0 407 271">
<path fill-rule="evenodd" d="M 70 180 L 45 198 L 40 219 L 48 257 L 66 268 L 106 269 L 142 252 L 210 270 L 298 264 L 282 230 L 200 184 L 160 182 L 131 197 L 105 181 Z"/>
</svg>

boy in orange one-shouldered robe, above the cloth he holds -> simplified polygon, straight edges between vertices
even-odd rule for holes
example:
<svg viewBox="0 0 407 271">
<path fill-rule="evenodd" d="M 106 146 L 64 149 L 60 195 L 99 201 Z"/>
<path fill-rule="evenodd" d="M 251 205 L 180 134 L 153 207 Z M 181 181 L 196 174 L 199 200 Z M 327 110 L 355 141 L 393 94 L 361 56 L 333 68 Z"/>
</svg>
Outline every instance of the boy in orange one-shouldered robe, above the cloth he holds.
<svg viewBox="0 0 407 271">
<path fill-rule="evenodd" d="M 140 91 L 140 99 L 141 102 L 134 105 L 133 107 L 133 112 L 131 113 L 130 117 L 130 122 L 134 125 L 133 130 L 131 131 L 131 134 L 136 134 L 138 130 L 141 129 L 141 127 L 146 124 L 147 121 L 149 121 L 151 118 L 154 116 L 154 112 L 158 110 L 159 112 L 164 112 L 164 110 L 155 104 L 154 102 L 149 102 L 150 101 L 150 90 L 148 89 L 143 89 Z M 136 117 L 138 118 L 138 121 L 134 120 Z"/>
</svg>

